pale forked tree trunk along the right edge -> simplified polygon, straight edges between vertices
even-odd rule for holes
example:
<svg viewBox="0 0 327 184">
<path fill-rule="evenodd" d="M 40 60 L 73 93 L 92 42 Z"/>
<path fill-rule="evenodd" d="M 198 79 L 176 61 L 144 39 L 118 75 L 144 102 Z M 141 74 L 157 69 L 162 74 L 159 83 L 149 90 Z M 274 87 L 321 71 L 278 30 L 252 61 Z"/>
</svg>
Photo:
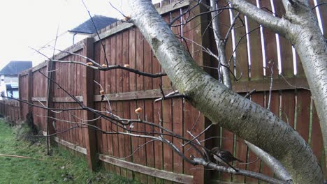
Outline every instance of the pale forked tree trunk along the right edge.
<svg viewBox="0 0 327 184">
<path fill-rule="evenodd" d="M 274 17 L 244 0 L 230 1 L 241 13 L 284 36 L 296 48 L 317 109 L 327 153 L 327 43 L 308 1 L 283 0 L 286 15 L 282 18 Z M 327 162 L 327 154 L 325 160 Z"/>
</svg>

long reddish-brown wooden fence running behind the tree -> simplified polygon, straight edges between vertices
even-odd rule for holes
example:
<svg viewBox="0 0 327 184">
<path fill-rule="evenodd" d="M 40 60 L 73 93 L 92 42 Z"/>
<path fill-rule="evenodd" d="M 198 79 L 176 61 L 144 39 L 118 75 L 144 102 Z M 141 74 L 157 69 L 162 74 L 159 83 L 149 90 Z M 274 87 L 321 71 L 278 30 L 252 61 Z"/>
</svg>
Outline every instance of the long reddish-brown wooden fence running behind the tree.
<svg viewBox="0 0 327 184">
<path fill-rule="evenodd" d="M 255 4 L 255 1 L 252 2 Z M 284 11 L 280 1 L 274 1 L 274 6 L 270 4 L 270 1 L 260 1 L 260 3 L 261 7 L 273 9 L 276 16 L 280 17 Z M 169 22 L 187 10 L 190 3 L 183 1 L 183 3 L 175 5 L 169 1 L 162 1 L 161 4 L 155 6 L 163 19 Z M 195 8 L 189 15 L 182 16 L 179 21 L 184 21 L 187 17 L 203 11 L 201 7 Z M 223 35 L 231 24 L 232 14 L 235 15 L 233 11 L 225 10 L 219 16 Z M 323 21 L 326 21 L 326 12 L 321 12 L 321 17 Z M 305 89 L 308 85 L 298 56 L 292 54 L 292 47 L 284 38 L 277 37 L 275 33 L 267 29 L 260 29 L 259 24 L 244 16 L 241 16 L 241 19 L 244 20 L 245 26 L 240 26 L 240 22 L 236 23 L 238 28 L 234 29 L 234 37 L 228 40 L 226 49 L 227 56 L 232 56 L 231 70 L 237 77 L 242 73 L 240 80 L 233 81 L 233 90 L 245 95 L 252 89 L 256 89 L 257 92 L 251 95 L 251 99 L 263 107 L 268 107 L 268 102 L 270 102 L 270 110 L 300 133 L 312 147 L 317 159 L 321 161 L 321 166 L 326 169 L 319 120 L 310 91 Z M 207 29 L 208 20 L 210 20 L 209 15 L 198 16 L 184 26 L 173 26 L 172 31 L 176 35 L 194 40 L 194 42 L 215 51 L 213 34 L 210 29 Z M 327 24 L 323 25 L 326 30 Z M 130 68 L 141 71 L 161 72 L 161 66 L 150 46 L 132 24 L 117 22 L 102 29 L 100 36 L 104 49 L 99 38 L 94 36 L 69 47 L 66 49 L 67 52 L 57 54 L 55 59 L 86 62 L 80 56 L 68 54 L 68 52 L 73 52 L 103 64 L 106 63 L 106 53 L 110 65 L 129 64 Z M 240 40 L 240 38 L 242 39 Z M 187 46 L 199 66 L 217 67 L 217 61 L 203 52 L 201 47 L 187 39 L 181 39 L 181 42 Z M 238 49 L 234 54 L 233 43 L 234 45 L 238 43 Z M 296 68 L 296 74 L 294 68 Z M 204 70 L 217 77 L 216 70 L 207 67 L 204 67 Z M 50 73 L 52 73 L 51 76 L 48 75 Z M 182 98 L 154 103 L 154 98 L 161 97 L 160 84 L 165 91 L 173 91 L 168 77 L 152 79 L 126 70 L 102 72 L 70 63 L 45 61 L 31 70 L 22 72 L 19 79 L 21 100 L 59 109 L 79 107 L 78 103 L 68 97 L 57 85 L 51 83 L 48 91 L 48 79 L 43 77 L 43 74 L 58 82 L 63 89 L 85 105 L 97 110 L 106 110 L 109 108 L 108 103 L 101 101 L 100 88 L 93 82 L 95 80 L 103 86 L 110 99 L 112 112 L 118 116 L 137 118 L 134 110 L 141 107 L 144 110 L 140 114 L 140 118 L 146 118 L 155 123 L 158 123 L 161 118 L 165 128 L 173 130 L 187 139 L 191 139 L 187 130 L 191 130 L 195 123 L 196 126 L 193 130 L 195 135 L 210 123 Z M 271 79 L 273 79 L 273 89 L 269 95 Z M 268 100 L 269 96 L 271 100 Z M 4 112 L 6 111 L 6 108 L 3 108 L 4 105 L 6 103 L 1 103 L 1 114 L 13 116 Z M 53 113 L 20 103 L 20 111 L 17 110 L 16 114 L 24 119 L 28 112 L 33 113 L 34 123 L 43 132 L 47 132 L 48 129 L 48 132 L 52 134 L 73 128 L 57 134 L 55 140 L 59 144 L 86 155 L 91 169 L 94 169 L 96 162 L 100 161 L 103 167 L 109 171 L 127 178 L 134 178 L 142 183 L 259 182 L 254 178 L 221 174 L 216 171 L 205 171 L 202 167 L 194 167 L 173 153 L 167 145 L 158 142 L 150 142 L 139 148 L 149 140 L 131 138 L 127 135 L 104 135 L 101 132 L 94 132 L 94 130 L 74 128 L 76 124 L 60 121 L 82 122 L 83 119 L 96 118 L 94 114 L 86 111 L 72 110 Z M 47 122 L 49 127 L 47 127 Z M 84 123 L 96 125 L 106 131 L 122 130 L 104 119 Z M 150 127 L 143 124 L 138 124 L 134 128 L 139 131 L 150 131 Z M 256 160 L 256 155 L 249 151 L 242 139 L 222 128 L 212 128 L 199 139 L 213 136 L 216 138 L 205 141 L 203 145 L 208 148 L 221 146 L 246 162 Z M 178 143 L 177 139 L 168 139 Z M 133 153 L 136 149 L 138 151 Z M 195 154 L 194 151 L 186 152 L 187 147 L 181 148 L 181 150 L 187 154 Z M 130 156 L 131 154 L 132 156 Z M 273 176 L 273 172 L 261 160 L 252 164 L 238 165 L 238 167 Z"/>
</svg>

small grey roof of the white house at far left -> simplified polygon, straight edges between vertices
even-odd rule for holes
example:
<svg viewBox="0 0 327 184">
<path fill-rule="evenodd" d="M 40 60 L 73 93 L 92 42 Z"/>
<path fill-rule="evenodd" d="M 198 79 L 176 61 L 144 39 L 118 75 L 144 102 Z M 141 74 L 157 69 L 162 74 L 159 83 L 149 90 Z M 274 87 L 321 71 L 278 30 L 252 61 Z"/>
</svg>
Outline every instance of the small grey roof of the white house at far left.
<svg viewBox="0 0 327 184">
<path fill-rule="evenodd" d="M 0 75 L 17 75 L 32 67 L 31 61 L 10 61 L 0 70 Z"/>
</svg>

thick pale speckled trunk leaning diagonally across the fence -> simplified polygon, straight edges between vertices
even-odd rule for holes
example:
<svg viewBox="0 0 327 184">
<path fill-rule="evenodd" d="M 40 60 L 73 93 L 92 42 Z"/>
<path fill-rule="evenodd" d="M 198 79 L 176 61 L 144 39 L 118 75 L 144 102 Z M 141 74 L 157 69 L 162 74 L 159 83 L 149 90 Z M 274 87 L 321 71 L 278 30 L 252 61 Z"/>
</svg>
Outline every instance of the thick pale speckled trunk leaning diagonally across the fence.
<svg viewBox="0 0 327 184">
<path fill-rule="evenodd" d="M 188 101 L 212 122 L 234 132 L 279 160 L 294 183 L 324 183 L 321 167 L 310 146 L 272 112 L 233 93 L 210 77 L 180 44 L 151 1 L 130 0 L 131 20 Z M 277 24 L 284 22 L 277 22 Z M 282 25 L 281 24 L 281 25 Z"/>
</svg>

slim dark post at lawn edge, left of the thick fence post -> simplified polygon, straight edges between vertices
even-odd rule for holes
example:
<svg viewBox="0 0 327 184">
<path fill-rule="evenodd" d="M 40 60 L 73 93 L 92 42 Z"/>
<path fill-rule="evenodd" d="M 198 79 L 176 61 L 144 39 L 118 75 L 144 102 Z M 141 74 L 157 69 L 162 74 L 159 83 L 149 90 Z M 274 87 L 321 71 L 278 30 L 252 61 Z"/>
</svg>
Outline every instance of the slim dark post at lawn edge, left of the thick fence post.
<svg viewBox="0 0 327 184">
<path fill-rule="evenodd" d="M 53 79 L 53 74 L 52 71 L 54 70 L 54 62 L 52 62 L 51 60 L 48 61 L 47 63 L 47 71 L 48 71 L 48 89 L 47 89 L 47 108 L 52 108 L 53 107 L 53 103 L 52 103 L 52 98 L 53 98 L 53 83 L 51 81 L 51 79 Z M 47 114 L 46 116 L 47 118 L 47 135 L 52 135 L 55 133 L 54 130 L 54 126 L 53 126 L 53 119 L 50 117 L 53 117 L 53 112 L 50 111 L 49 109 L 47 109 Z M 49 145 L 57 145 L 56 142 L 54 141 L 54 137 L 47 137 L 47 153 L 49 154 Z"/>
</svg>

